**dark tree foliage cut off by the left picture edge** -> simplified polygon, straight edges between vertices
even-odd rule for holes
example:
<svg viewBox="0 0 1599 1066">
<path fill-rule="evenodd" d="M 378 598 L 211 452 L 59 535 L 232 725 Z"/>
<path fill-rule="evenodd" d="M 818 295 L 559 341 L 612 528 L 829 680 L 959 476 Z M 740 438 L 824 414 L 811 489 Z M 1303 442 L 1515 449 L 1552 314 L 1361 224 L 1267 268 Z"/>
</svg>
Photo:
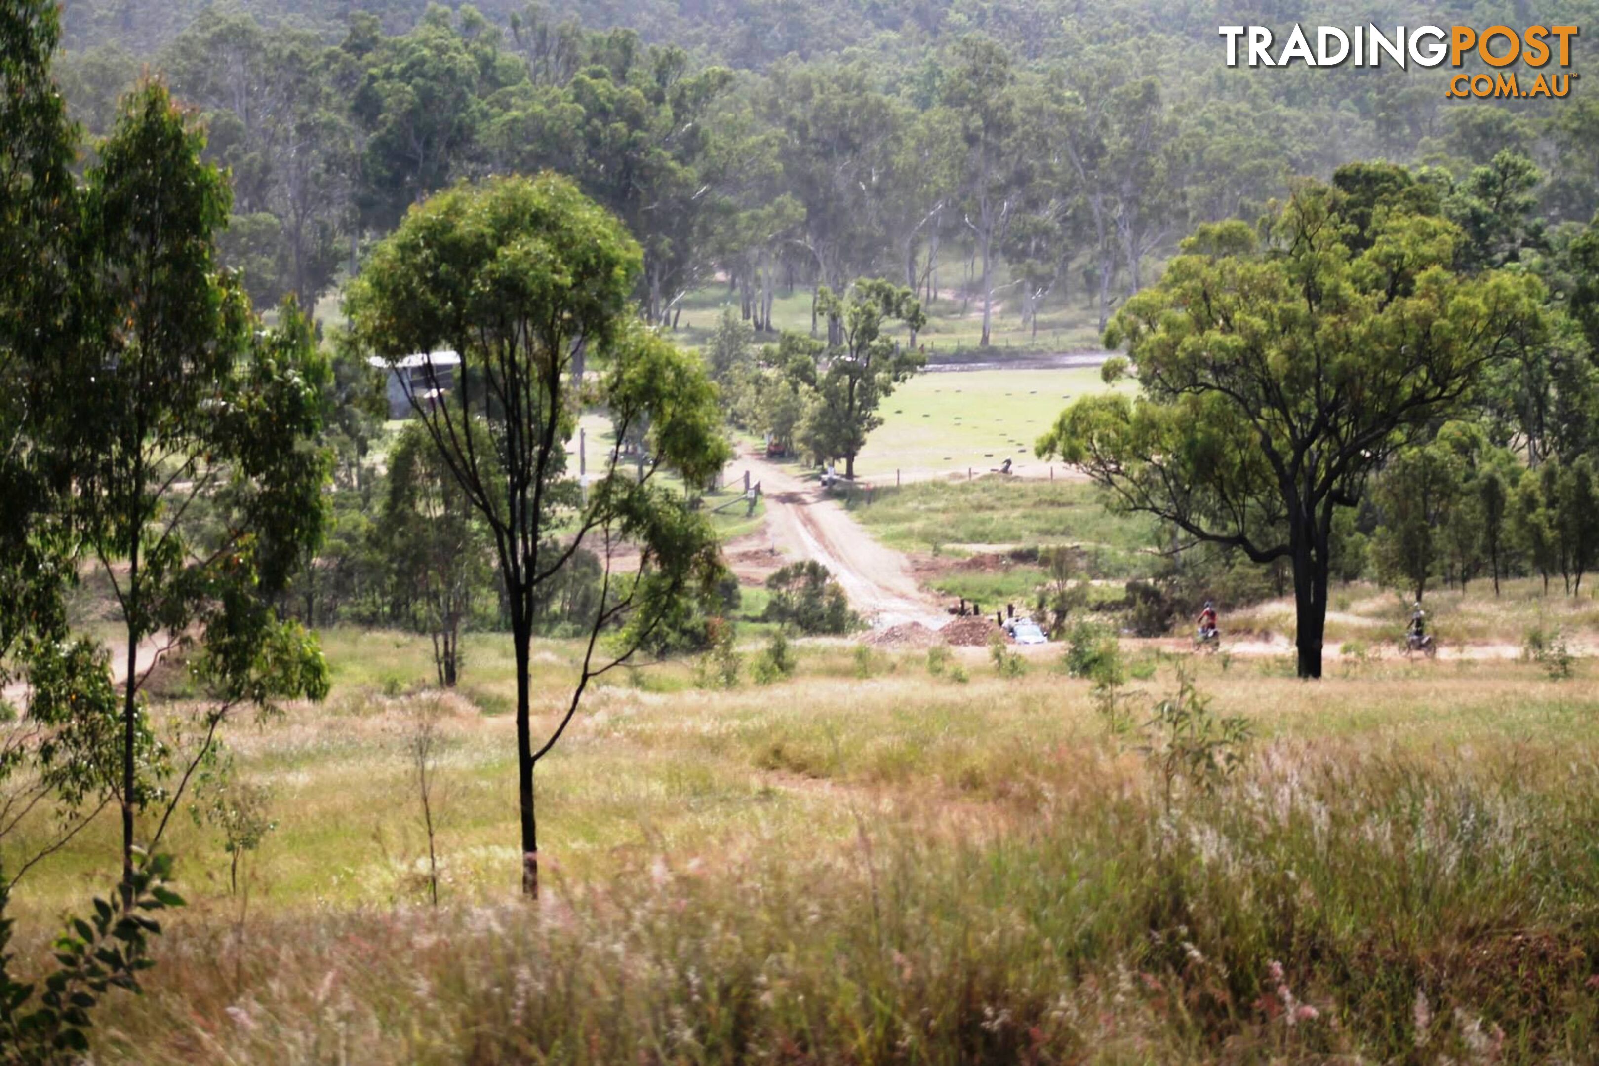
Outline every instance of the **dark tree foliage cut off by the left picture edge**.
<svg viewBox="0 0 1599 1066">
<path fill-rule="evenodd" d="M 98 649 L 66 646 L 62 591 L 72 563 L 61 500 L 67 481 L 56 455 L 37 443 L 40 430 L 66 414 L 43 400 L 48 368 L 72 342 L 78 195 L 69 166 L 77 131 L 50 70 L 58 30 L 51 3 L 0 6 L 0 248 L 6 249 L 0 254 L 0 690 L 27 679 L 37 660 L 45 660 L 46 673 L 58 670 L 54 678 L 34 670 L 34 690 L 56 678 L 69 689 L 83 687 L 96 681 L 99 666 Z M 109 694 L 102 670 L 98 681 Z M 19 708 L 0 700 L 0 892 L 101 809 L 90 796 L 109 775 L 106 742 L 115 718 L 104 711 L 110 703 L 96 700 L 93 710 L 83 706 L 64 719 L 46 703 L 19 721 Z M 51 802 L 61 812 L 51 833 L 40 833 L 21 852 L 18 826 Z M 0 937 L 8 929 L 0 924 Z"/>
</svg>

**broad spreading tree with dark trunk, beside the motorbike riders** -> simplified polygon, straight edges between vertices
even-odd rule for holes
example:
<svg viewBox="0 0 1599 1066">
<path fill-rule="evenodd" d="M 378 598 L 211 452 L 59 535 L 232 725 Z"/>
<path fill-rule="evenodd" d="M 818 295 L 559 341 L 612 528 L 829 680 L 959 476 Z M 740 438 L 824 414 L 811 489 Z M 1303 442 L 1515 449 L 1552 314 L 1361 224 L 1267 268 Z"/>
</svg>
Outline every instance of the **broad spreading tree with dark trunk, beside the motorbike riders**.
<svg viewBox="0 0 1599 1066">
<path fill-rule="evenodd" d="M 1111 321 L 1143 396 L 1062 412 L 1038 452 L 1081 463 L 1119 507 L 1294 574 L 1298 673 L 1321 676 L 1332 523 L 1367 476 L 1461 406 L 1535 323 L 1543 286 L 1453 273 L 1447 221 L 1377 213 L 1303 184 L 1262 221 L 1202 225 Z"/>
</svg>

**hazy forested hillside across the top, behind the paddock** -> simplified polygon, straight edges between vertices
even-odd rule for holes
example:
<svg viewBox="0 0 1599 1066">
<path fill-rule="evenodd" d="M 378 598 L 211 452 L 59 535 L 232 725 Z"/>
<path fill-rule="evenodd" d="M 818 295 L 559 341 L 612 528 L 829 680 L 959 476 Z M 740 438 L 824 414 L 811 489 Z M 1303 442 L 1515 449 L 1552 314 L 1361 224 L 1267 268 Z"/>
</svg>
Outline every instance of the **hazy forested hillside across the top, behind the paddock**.
<svg viewBox="0 0 1599 1066">
<path fill-rule="evenodd" d="M 1103 328 L 1196 224 L 1254 219 L 1350 160 L 1453 189 L 1509 150 L 1556 240 L 1586 222 L 1599 105 L 1580 82 L 1565 101 L 1449 101 L 1444 69 L 1230 70 L 1215 32 L 1593 8 L 1530 6 L 90 0 L 66 10 L 58 69 L 91 133 L 144 69 L 205 115 L 235 185 L 224 257 L 257 304 L 315 304 L 457 177 L 550 168 L 644 245 L 652 321 L 712 278 L 769 329 L 779 292 L 884 275 L 975 304 L 987 342 L 998 302 L 1036 326 L 1075 294 Z"/>
</svg>

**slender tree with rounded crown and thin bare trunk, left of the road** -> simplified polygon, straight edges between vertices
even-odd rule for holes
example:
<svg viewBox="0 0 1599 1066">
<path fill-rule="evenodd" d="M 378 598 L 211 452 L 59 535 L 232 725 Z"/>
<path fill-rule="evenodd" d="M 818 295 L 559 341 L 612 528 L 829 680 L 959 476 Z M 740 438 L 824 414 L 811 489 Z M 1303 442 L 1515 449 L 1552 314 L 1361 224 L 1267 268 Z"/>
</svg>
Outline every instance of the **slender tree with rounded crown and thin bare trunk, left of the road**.
<svg viewBox="0 0 1599 1066">
<path fill-rule="evenodd" d="M 680 623 L 721 574 L 708 521 L 659 483 L 667 468 L 691 484 L 721 468 L 721 412 L 697 356 L 630 313 L 641 265 L 638 245 L 571 181 L 492 179 L 413 208 L 374 249 L 349 299 L 355 329 L 374 352 L 400 358 L 449 347 L 462 356 L 464 387 L 437 406 L 413 396 L 413 406 L 488 526 L 508 601 L 523 890 L 534 897 L 536 764 L 560 740 L 588 682 Z M 577 350 L 603 368 L 596 385 L 574 379 Z M 649 459 L 635 471 L 612 446 L 580 487 L 566 441 L 585 390 L 609 409 L 617 441 L 648 422 Z M 612 569 L 624 543 L 638 551 L 630 574 Z M 537 607 L 584 550 L 604 566 L 601 609 L 587 628 L 566 706 L 536 740 L 529 660 Z M 596 658 L 601 634 L 617 626 L 611 654 Z"/>
</svg>

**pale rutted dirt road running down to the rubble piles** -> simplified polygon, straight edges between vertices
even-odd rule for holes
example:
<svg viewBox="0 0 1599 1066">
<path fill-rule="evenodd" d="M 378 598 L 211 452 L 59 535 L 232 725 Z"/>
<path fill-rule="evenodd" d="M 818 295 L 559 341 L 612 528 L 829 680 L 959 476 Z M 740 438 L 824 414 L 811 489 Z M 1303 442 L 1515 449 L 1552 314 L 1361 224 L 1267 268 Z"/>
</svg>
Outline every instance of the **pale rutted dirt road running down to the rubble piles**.
<svg viewBox="0 0 1599 1066">
<path fill-rule="evenodd" d="M 815 484 L 803 481 L 766 457 L 747 452 L 732 460 L 728 476 L 761 483 L 772 543 L 790 559 L 815 559 L 849 596 L 851 606 L 876 628 L 948 622 L 939 604 L 916 587 L 910 563 L 884 548 Z"/>
</svg>

